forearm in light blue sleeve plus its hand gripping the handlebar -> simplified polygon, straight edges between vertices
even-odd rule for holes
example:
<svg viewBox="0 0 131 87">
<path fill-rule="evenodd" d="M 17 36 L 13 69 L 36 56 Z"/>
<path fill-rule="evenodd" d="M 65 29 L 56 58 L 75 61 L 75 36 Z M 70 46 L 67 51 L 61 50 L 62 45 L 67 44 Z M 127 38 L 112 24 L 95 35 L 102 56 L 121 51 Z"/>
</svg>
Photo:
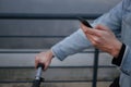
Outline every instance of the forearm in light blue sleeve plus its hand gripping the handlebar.
<svg viewBox="0 0 131 87">
<path fill-rule="evenodd" d="M 38 63 L 43 63 L 45 65 L 44 70 L 47 70 L 53 55 L 62 61 L 67 55 L 79 52 L 90 46 L 91 42 L 86 39 L 82 29 L 79 29 L 62 41 L 55 45 L 50 50 L 38 53 L 35 57 L 35 67 L 37 67 Z"/>
</svg>

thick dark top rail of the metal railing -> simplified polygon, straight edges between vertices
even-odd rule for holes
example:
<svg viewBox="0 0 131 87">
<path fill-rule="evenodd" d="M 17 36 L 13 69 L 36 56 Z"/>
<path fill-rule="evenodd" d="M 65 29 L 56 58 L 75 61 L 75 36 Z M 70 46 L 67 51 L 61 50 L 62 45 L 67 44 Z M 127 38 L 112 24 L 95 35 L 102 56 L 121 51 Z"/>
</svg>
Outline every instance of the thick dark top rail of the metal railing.
<svg viewBox="0 0 131 87">
<path fill-rule="evenodd" d="M 78 20 L 78 16 L 94 20 L 102 14 L 31 14 L 0 13 L 0 20 Z"/>
</svg>

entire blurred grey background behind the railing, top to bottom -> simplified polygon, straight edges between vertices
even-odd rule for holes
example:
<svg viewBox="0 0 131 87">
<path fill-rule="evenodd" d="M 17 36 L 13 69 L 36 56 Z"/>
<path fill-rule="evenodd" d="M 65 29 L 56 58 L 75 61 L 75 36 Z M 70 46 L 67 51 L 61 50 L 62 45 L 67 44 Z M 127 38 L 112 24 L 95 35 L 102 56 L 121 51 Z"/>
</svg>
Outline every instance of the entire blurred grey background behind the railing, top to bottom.
<svg viewBox="0 0 131 87">
<path fill-rule="evenodd" d="M 121 0 L 0 0 L 0 14 L 104 14 L 120 1 Z M 93 22 L 93 20 L 88 21 L 91 23 Z M 31 86 L 31 83 L 15 82 L 32 80 L 34 78 L 35 55 L 40 51 L 48 50 L 51 46 L 62 40 L 63 37 L 78 30 L 79 27 L 80 22 L 78 20 L 0 18 L 0 87 Z M 52 37 L 37 38 L 37 36 Z M 53 36 L 62 37 L 53 38 Z M 88 53 L 70 55 L 62 62 L 55 58 L 50 69 L 44 72 L 44 77 L 47 80 L 87 80 L 87 83 L 52 82 L 43 84 L 43 86 L 92 87 L 94 49 L 91 48 L 87 49 L 87 51 Z M 98 69 L 98 87 L 108 87 L 114 77 L 119 74 L 117 69 L 111 65 L 110 58 L 107 53 L 99 53 L 98 65 L 102 67 Z M 58 66 L 58 69 L 53 66 Z M 74 66 L 74 69 L 71 66 Z M 11 83 L 10 80 L 14 82 Z"/>
</svg>

